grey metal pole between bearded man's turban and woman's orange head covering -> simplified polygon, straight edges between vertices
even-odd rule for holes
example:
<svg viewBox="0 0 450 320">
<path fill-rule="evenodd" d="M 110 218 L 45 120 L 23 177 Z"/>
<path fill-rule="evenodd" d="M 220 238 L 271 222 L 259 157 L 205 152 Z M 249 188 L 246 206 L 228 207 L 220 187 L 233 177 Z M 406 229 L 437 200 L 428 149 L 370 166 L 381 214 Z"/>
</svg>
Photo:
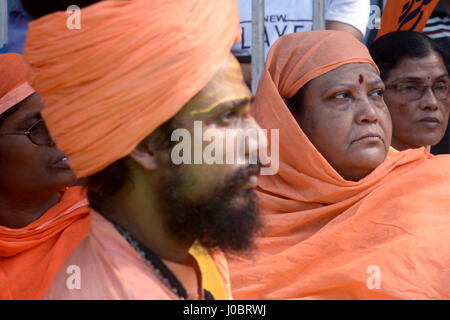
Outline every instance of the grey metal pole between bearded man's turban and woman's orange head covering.
<svg viewBox="0 0 450 320">
<path fill-rule="evenodd" d="M 264 0 L 252 0 L 252 92 L 264 71 Z"/>
</svg>

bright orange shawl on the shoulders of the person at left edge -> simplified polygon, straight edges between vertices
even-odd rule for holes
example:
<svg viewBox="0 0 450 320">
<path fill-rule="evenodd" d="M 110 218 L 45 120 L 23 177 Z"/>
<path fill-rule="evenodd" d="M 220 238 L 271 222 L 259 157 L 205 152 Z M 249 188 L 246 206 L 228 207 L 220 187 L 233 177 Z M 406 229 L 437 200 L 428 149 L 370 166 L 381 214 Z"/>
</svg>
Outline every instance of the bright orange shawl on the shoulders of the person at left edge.
<svg viewBox="0 0 450 320">
<path fill-rule="evenodd" d="M 0 226 L 0 300 L 43 299 L 60 267 L 87 235 L 89 224 L 85 194 L 73 187 L 30 225 Z"/>
</svg>

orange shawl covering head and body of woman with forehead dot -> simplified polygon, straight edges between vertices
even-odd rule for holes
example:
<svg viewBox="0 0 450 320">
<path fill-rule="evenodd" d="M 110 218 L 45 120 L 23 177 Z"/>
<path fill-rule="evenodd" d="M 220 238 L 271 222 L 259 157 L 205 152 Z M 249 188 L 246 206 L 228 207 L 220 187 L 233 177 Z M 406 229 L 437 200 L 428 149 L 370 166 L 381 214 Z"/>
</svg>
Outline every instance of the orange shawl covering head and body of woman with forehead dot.
<svg viewBox="0 0 450 320">
<path fill-rule="evenodd" d="M 235 299 L 450 298 L 449 156 L 391 150 L 346 181 L 283 102 L 355 56 L 368 54 L 336 31 L 288 35 L 269 53 L 255 113 L 280 130 L 280 170 L 258 180 L 265 228 L 254 256 L 229 261 Z"/>
</svg>

